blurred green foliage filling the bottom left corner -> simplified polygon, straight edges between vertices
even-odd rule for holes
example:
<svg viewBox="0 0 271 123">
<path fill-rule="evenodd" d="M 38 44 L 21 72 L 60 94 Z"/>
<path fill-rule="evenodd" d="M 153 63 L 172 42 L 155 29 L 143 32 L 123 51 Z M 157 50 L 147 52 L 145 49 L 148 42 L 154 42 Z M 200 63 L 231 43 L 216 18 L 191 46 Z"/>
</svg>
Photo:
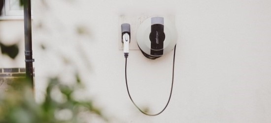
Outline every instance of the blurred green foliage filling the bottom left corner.
<svg viewBox="0 0 271 123">
<path fill-rule="evenodd" d="M 50 78 L 42 103 L 34 100 L 34 90 L 25 79 L 14 80 L 0 95 L 0 123 L 86 123 L 82 114 L 95 115 L 106 121 L 91 100 L 78 101 L 75 90 L 82 88 L 78 75 L 73 85 Z"/>
</svg>

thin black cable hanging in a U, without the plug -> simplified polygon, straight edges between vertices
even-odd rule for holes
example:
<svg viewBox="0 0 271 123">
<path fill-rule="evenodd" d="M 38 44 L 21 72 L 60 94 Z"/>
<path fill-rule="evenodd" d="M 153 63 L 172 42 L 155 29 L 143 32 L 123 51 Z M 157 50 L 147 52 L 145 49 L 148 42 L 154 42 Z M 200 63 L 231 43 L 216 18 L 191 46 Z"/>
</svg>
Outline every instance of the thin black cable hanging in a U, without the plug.
<svg viewBox="0 0 271 123">
<path fill-rule="evenodd" d="M 162 111 L 160 111 L 159 113 L 157 114 L 147 114 L 145 113 L 144 111 L 142 111 L 134 102 L 134 100 L 132 99 L 131 95 L 130 95 L 130 92 L 129 92 L 129 88 L 128 88 L 128 83 L 127 83 L 127 58 L 125 58 L 125 80 L 126 80 L 126 88 L 127 88 L 127 92 L 128 92 L 128 95 L 129 95 L 129 98 L 131 99 L 131 101 L 134 103 L 135 107 L 143 114 L 145 115 L 148 115 L 148 116 L 157 116 L 159 114 L 161 114 L 169 105 L 169 101 L 170 101 L 170 98 L 171 98 L 171 94 L 172 94 L 172 89 L 173 89 L 173 81 L 174 81 L 174 64 L 175 64 L 175 51 L 176 51 L 176 45 L 174 47 L 174 54 L 173 54 L 173 66 L 172 66 L 172 83 L 171 83 L 171 89 L 170 89 L 170 94 L 169 94 L 169 100 L 166 104 L 166 106 L 163 108 Z"/>
</svg>

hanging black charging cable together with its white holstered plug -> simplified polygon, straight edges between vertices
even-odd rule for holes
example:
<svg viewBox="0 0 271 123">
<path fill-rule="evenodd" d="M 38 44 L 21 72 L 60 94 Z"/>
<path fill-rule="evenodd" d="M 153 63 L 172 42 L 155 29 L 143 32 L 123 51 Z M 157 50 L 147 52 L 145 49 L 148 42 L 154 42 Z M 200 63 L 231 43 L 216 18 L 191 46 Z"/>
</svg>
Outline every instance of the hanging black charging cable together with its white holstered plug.
<svg viewBox="0 0 271 123">
<path fill-rule="evenodd" d="M 148 114 L 146 112 L 144 112 L 143 110 L 141 110 L 134 102 L 134 100 L 132 99 L 131 95 L 130 95 L 130 92 L 129 92 L 129 88 L 128 88 L 128 82 L 127 82 L 127 57 L 129 55 L 129 42 L 130 42 L 130 25 L 129 24 L 122 24 L 121 25 L 121 29 L 122 29 L 122 40 L 123 40 L 123 43 L 124 43 L 124 49 L 123 49 L 123 52 L 124 52 L 124 56 L 125 56 L 125 81 L 126 81 L 126 88 L 127 88 L 127 92 L 128 92 L 128 95 L 129 95 L 129 98 L 131 99 L 131 101 L 133 102 L 133 104 L 135 105 L 135 107 L 143 114 L 145 115 L 148 115 L 148 116 L 157 116 L 159 114 L 161 114 L 162 112 L 165 111 L 165 109 L 168 107 L 169 105 L 169 101 L 170 101 L 170 98 L 171 98 L 171 94 L 172 94 L 172 89 L 173 89 L 173 81 L 174 81 L 174 64 L 175 64 L 175 51 L 176 51 L 176 45 L 174 47 L 174 53 L 173 53 L 173 66 L 172 66 L 172 82 L 171 82 L 171 89 L 170 89 L 170 94 L 169 94 L 169 99 L 168 99 L 168 102 L 166 104 L 166 106 L 158 113 L 156 114 Z M 127 38 L 128 36 L 129 38 Z M 129 39 L 129 40 L 127 40 Z M 129 42 L 128 42 L 129 41 Z M 126 45 L 125 42 L 128 42 Z M 128 49 L 127 49 L 128 48 Z"/>
</svg>

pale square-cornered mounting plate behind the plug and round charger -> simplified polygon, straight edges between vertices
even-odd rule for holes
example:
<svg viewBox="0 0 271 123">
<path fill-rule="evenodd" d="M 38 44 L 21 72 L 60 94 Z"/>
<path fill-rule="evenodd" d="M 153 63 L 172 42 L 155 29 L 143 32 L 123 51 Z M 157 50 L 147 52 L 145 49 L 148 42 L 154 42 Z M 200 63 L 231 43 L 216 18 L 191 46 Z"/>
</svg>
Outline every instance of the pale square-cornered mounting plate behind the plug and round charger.
<svg viewBox="0 0 271 123">
<path fill-rule="evenodd" d="M 166 17 L 173 24 L 175 24 L 175 16 L 174 15 L 120 15 L 119 16 L 119 40 L 118 40 L 119 50 L 123 49 L 123 43 L 121 42 L 121 40 L 122 40 L 121 39 L 121 26 L 120 26 L 121 24 L 128 23 L 131 25 L 131 42 L 130 42 L 129 49 L 130 50 L 139 50 L 139 48 L 137 46 L 137 42 L 136 42 L 137 28 L 146 19 L 148 19 L 150 17 L 156 17 L 156 16 Z"/>
</svg>

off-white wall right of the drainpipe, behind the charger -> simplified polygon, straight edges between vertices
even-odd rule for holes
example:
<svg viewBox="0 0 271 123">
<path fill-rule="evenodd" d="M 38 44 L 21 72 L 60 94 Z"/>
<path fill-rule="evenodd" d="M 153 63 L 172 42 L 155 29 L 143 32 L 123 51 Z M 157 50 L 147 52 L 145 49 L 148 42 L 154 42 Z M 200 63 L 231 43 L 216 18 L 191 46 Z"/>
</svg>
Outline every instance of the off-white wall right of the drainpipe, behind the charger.
<svg viewBox="0 0 271 123">
<path fill-rule="evenodd" d="M 46 77 L 71 80 L 79 69 L 88 91 L 116 123 L 270 123 L 270 0 L 34 0 L 36 98 Z M 68 2 L 69 1 L 69 2 Z M 173 14 L 178 31 L 171 101 L 157 117 L 129 100 L 118 49 L 119 15 Z M 37 28 L 37 27 L 42 28 Z M 78 36 L 76 27 L 89 33 Z M 132 32 L 133 33 L 133 32 Z M 44 44 L 46 50 L 41 50 Z M 173 52 L 128 58 L 131 94 L 160 111 L 169 96 Z M 64 64 L 63 59 L 71 59 Z"/>
</svg>

